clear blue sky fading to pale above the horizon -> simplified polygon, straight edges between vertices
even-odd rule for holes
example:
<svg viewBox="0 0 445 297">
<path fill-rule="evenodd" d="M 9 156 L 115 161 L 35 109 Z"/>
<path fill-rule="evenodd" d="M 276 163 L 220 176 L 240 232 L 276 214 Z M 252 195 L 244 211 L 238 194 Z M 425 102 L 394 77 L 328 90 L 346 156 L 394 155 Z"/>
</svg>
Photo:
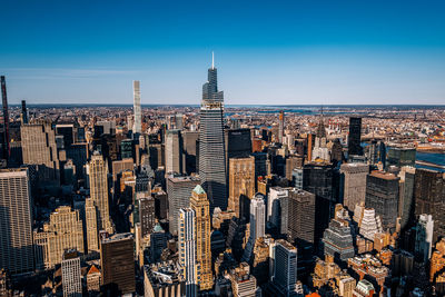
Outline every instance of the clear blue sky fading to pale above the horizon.
<svg viewBox="0 0 445 297">
<path fill-rule="evenodd" d="M 0 0 L 10 103 L 445 103 L 445 1 Z"/>
</svg>

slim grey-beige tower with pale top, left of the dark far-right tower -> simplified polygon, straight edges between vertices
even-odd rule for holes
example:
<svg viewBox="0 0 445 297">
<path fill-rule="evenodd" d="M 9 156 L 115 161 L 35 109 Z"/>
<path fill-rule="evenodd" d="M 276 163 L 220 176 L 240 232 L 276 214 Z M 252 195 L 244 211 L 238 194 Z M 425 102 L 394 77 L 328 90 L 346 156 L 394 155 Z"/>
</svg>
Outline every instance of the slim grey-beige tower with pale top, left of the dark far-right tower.
<svg viewBox="0 0 445 297">
<path fill-rule="evenodd" d="M 400 228 L 405 230 L 411 222 L 414 221 L 414 178 L 416 169 L 414 167 L 404 166 L 398 172 L 400 178 L 399 192 L 400 199 L 398 204 L 398 217 L 400 217 Z"/>
</svg>

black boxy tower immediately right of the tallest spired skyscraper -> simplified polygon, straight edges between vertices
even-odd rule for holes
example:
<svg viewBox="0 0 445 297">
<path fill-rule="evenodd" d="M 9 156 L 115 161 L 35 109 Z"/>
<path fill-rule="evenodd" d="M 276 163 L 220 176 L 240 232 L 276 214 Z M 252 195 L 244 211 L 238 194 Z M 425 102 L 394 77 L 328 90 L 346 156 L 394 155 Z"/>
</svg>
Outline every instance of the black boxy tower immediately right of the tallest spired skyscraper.
<svg viewBox="0 0 445 297">
<path fill-rule="evenodd" d="M 248 158 L 251 154 L 250 129 L 229 129 L 226 133 L 227 158 Z"/>
</svg>

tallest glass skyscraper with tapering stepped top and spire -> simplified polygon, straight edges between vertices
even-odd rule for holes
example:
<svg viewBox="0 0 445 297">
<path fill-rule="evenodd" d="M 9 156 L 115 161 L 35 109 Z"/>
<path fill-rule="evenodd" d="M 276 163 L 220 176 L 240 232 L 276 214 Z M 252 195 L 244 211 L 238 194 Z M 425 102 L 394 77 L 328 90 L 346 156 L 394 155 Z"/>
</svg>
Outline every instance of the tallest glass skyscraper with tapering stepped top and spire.
<svg viewBox="0 0 445 297">
<path fill-rule="evenodd" d="M 214 62 L 208 69 L 208 81 L 202 86 L 199 119 L 199 177 L 210 200 L 210 212 L 215 207 L 226 210 L 224 93 L 218 91 L 217 69 Z"/>
</svg>

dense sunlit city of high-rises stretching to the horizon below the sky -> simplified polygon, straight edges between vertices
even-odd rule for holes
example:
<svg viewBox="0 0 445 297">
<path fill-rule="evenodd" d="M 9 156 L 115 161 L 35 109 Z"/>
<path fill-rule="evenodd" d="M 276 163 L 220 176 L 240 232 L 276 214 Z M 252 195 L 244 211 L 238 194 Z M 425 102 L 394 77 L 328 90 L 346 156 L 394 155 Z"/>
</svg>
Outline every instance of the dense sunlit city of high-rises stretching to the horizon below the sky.
<svg viewBox="0 0 445 297">
<path fill-rule="evenodd" d="M 445 296 L 445 105 L 226 103 L 218 57 L 187 103 L 0 68 L 0 296 Z"/>
</svg>

